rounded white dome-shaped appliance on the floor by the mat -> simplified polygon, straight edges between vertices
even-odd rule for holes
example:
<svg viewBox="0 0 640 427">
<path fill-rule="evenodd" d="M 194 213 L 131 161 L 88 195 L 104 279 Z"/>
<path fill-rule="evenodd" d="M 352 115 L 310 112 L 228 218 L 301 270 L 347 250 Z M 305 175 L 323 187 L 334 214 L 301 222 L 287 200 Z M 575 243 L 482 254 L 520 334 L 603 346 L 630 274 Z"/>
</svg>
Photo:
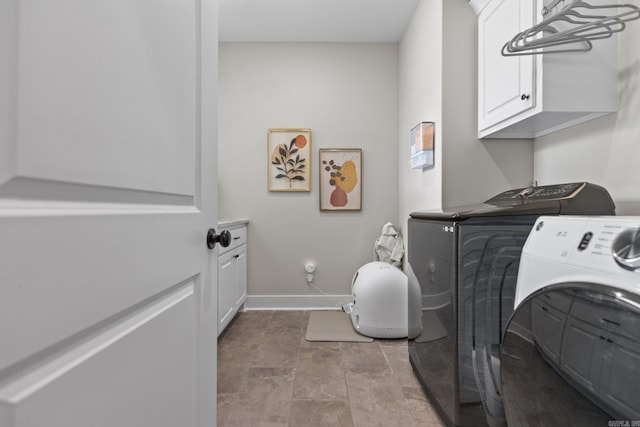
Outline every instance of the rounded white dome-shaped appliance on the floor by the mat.
<svg viewBox="0 0 640 427">
<path fill-rule="evenodd" d="M 400 269 L 382 261 L 363 265 L 351 282 L 353 302 L 343 306 L 355 330 L 372 338 L 413 338 L 422 319 L 409 320 L 409 301 L 420 301 L 420 287 Z M 409 296 L 411 293 L 411 296 Z"/>
</svg>

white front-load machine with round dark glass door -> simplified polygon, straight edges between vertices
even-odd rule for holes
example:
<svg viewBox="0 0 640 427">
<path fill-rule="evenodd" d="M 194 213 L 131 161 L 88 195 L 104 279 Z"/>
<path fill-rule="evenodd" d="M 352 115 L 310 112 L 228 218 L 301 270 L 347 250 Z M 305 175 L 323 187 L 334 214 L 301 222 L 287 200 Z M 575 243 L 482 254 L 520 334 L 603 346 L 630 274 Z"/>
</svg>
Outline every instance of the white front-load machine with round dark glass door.
<svg viewBox="0 0 640 427">
<path fill-rule="evenodd" d="M 540 217 L 501 350 L 509 426 L 640 425 L 640 217 Z"/>
</svg>

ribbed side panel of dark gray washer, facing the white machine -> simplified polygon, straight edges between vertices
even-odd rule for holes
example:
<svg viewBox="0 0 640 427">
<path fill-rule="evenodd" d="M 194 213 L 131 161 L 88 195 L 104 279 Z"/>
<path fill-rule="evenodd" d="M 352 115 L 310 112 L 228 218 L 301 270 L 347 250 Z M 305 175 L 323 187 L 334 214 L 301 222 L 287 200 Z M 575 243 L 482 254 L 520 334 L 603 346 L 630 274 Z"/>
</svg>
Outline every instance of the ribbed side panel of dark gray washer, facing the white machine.
<svg viewBox="0 0 640 427">
<path fill-rule="evenodd" d="M 513 311 L 522 247 L 536 216 L 469 220 L 460 227 L 458 365 L 461 401 L 482 400 L 490 426 L 506 424 L 500 343 Z M 479 395 L 479 396 L 478 396 Z"/>
</svg>

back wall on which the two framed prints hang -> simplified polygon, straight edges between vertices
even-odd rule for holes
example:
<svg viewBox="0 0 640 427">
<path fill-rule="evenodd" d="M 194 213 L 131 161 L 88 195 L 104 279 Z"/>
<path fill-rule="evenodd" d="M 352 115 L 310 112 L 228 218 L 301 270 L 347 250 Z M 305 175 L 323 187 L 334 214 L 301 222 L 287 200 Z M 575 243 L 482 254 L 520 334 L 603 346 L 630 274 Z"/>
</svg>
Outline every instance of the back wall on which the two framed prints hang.
<svg viewBox="0 0 640 427">
<path fill-rule="evenodd" d="M 248 218 L 249 295 L 350 294 L 398 219 L 398 46 L 221 43 L 219 216 Z M 267 191 L 267 129 L 310 128 L 312 191 Z M 320 212 L 318 149 L 362 148 L 361 212 Z"/>
</svg>

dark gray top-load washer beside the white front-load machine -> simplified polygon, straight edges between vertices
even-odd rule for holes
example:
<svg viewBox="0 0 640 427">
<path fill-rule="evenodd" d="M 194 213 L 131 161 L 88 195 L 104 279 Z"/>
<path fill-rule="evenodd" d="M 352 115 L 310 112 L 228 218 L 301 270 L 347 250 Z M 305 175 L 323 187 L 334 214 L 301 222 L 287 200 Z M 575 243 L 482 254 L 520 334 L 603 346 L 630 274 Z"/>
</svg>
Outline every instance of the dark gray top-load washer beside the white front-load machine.
<svg viewBox="0 0 640 427">
<path fill-rule="evenodd" d="M 447 425 L 505 423 L 499 349 L 535 220 L 614 213 L 604 188 L 580 182 L 518 188 L 477 205 L 411 214 L 408 262 L 421 301 L 410 301 L 409 315 L 421 311 L 422 331 L 409 340 L 409 360 Z"/>
</svg>

